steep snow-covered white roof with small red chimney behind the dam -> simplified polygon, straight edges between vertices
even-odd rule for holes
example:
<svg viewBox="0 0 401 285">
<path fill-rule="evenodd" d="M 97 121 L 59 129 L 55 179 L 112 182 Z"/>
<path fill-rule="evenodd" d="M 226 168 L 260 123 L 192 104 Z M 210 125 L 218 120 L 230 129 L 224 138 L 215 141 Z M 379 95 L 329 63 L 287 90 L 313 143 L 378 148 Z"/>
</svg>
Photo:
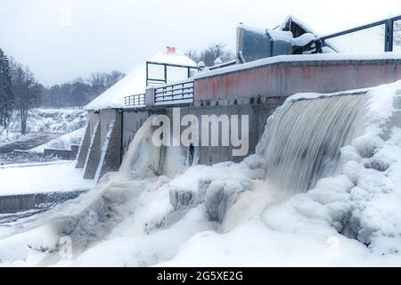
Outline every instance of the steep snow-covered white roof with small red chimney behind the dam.
<svg viewBox="0 0 401 285">
<path fill-rule="evenodd" d="M 151 62 L 184 65 L 196 67 L 196 63 L 184 53 L 156 53 L 151 57 Z M 182 78 L 184 79 L 184 78 Z M 94 101 L 86 105 L 86 110 L 102 110 L 112 108 L 124 108 L 125 97 L 135 94 L 144 94 L 146 90 L 146 61 L 122 78 L 117 84 L 112 85 Z"/>
</svg>

